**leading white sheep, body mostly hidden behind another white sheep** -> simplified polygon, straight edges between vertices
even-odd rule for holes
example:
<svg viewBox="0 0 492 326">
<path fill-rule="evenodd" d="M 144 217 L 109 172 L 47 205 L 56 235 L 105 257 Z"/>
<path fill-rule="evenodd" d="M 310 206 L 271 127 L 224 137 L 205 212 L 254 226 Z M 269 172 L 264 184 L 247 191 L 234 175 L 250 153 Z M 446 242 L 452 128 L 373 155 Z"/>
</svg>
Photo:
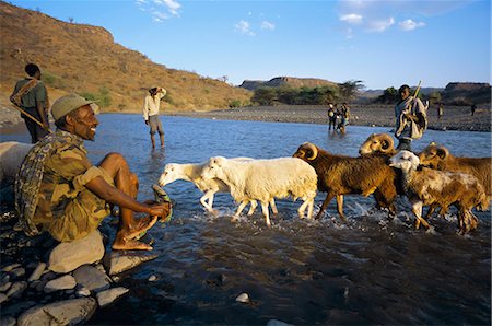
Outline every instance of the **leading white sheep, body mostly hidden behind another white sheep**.
<svg viewBox="0 0 492 326">
<path fill-rule="evenodd" d="M 235 158 L 230 160 L 248 161 L 253 159 Z M 201 177 L 202 170 L 208 163 L 208 161 L 198 164 L 168 163 L 164 166 L 164 171 L 159 178 L 159 184 L 161 186 L 165 186 L 178 179 L 194 183 L 200 191 L 204 193 L 204 195 L 200 198 L 200 203 L 206 208 L 207 211 L 214 213 L 215 211 L 213 210 L 213 197 L 215 193 L 229 193 L 230 188 L 221 179 L 203 179 Z M 251 200 L 250 202 L 251 206 L 249 208 L 248 216 L 251 216 L 255 212 L 256 207 L 258 206 L 256 200 Z M 270 203 L 273 211 L 277 213 L 274 200 L 272 200 Z"/>
</svg>

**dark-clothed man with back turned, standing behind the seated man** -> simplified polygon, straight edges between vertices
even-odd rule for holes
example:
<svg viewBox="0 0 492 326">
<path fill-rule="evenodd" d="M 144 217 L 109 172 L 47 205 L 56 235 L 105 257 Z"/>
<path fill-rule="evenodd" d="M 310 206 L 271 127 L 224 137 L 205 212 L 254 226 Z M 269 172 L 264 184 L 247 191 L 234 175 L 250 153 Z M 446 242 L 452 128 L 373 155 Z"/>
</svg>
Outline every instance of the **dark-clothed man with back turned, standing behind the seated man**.
<svg viewBox="0 0 492 326">
<path fill-rule="evenodd" d="M 49 133 L 48 92 L 40 81 L 39 67 L 28 63 L 24 70 L 28 77 L 16 82 L 10 101 L 37 120 L 36 123 L 25 114 L 21 114 L 27 131 L 30 131 L 31 142 L 36 143 Z"/>
</svg>

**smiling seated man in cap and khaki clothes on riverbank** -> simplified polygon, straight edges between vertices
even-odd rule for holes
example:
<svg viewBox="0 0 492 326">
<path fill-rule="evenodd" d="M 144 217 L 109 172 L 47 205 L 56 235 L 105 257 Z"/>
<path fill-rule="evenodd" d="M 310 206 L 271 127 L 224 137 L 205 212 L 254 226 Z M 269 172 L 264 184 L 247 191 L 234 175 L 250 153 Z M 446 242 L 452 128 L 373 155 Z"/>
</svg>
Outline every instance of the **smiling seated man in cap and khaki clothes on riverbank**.
<svg viewBox="0 0 492 326">
<path fill-rule="evenodd" d="M 83 140 L 94 140 L 97 118 L 93 101 L 77 94 L 58 98 L 51 114 L 57 131 L 28 152 L 15 183 L 15 208 L 28 235 L 48 231 L 60 242 L 86 236 L 120 208 L 120 223 L 113 249 L 152 247 L 136 238 L 165 218 L 171 203 L 139 202 L 138 178 L 118 153 L 107 154 L 98 166 L 87 159 Z M 136 219 L 133 212 L 149 217 Z"/>
</svg>

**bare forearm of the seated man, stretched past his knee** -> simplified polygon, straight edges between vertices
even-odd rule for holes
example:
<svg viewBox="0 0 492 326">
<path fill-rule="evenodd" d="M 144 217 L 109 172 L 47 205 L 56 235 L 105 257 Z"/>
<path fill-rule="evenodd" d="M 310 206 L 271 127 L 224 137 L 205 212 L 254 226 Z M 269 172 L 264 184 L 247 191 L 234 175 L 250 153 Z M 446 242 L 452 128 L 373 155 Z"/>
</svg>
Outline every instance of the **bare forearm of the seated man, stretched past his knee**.
<svg viewBox="0 0 492 326">
<path fill-rule="evenodd" d="M 143 212 L 150 216 L 162 216 L 164 210 L 168 208 L 163 205 L 149 206 L 140 203 L 124 191 L 106 183 L 101 176 L 97 176 L 86 183 L 85 187 L 105 201 L 118 205 L 119 207 L 128 208 L 132 211 Z"/>
</svg>

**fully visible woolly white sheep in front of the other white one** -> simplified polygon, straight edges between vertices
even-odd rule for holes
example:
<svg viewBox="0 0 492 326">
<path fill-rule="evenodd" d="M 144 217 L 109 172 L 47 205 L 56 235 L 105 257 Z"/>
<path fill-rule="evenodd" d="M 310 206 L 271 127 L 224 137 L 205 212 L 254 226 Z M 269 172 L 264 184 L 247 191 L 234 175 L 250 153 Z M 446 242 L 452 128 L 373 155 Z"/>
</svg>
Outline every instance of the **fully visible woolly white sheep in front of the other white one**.
<svg viewBox="0 0 492 326">
<path fill-rule="evenodd" d="M 304 218 L 306 208 L 307 218 L 313 217 L 317 175 L 309 164 L 300 159 L 233 161 L 215 156 L 209 160 L 202 177 L 219 178 L 230 187 L 232 197 L 239 202 L 233 219 L 237 219 L 248 201 L 259 200 L 265 221 L 270 226 L 268 203 L 273 198 L 288 197 L 304 200 L 297 210 L 301 218 Z"/>
</svg>

